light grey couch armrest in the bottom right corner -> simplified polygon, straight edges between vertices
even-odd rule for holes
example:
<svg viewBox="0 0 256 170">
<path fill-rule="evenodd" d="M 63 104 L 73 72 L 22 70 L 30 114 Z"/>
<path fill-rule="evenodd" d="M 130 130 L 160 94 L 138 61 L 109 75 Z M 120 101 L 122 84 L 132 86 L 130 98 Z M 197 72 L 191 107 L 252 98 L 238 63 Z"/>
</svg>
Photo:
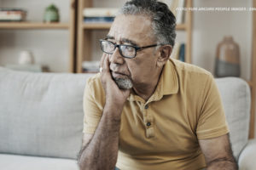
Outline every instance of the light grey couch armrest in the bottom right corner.
<svg viewBox="0 0 256 170">
<path fill-rule="evenodd" d="M 253 170 L 256 167 L 256 139 L 248 141 L 238 158 L 239 170 Z"/>
</svg>

